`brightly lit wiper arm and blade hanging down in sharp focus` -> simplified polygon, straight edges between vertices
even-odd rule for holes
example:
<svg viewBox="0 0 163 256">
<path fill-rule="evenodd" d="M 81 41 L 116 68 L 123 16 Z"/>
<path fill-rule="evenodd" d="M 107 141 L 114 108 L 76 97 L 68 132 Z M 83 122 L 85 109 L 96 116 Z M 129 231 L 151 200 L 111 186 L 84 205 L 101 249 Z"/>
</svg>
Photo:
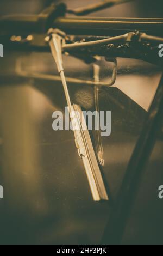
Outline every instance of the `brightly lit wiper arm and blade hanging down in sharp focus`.
<svg viewBox="0 0 163 256">
<path fill-rule="evenodd" d="M 73 127 L 74 137 L 76 142 L 76 147 L 78 149 L 78 154 L 82 158 L 87 179 L 89 181 L 91 193 L 93 200 L 108 200 L 108 194 L 104 185 L 101 170 L 96 159 L 95 151 L 92 146 L 89 131 L 86 127 L 86 122 L 83 116 L 82 109 L 78 105 L 72 105 L 70 95 L 68 93 L 66 78 L 64 74 L 64 68 L 62 65 L 62 32 L 59 35 L 58 30 L 52 29 L 49 31 L 49 46 L 51 47 L 52 55 L 57 64 L 58 72 L 61 77 L 62 85 L 64 87 L 64 92 L 67 100 L 68 109 L 71 113 L 75 114 L 75 118 L 78 123 L 78 129 Z M 73 122 L 72 122 L 73 125 Z"/>
</svg>

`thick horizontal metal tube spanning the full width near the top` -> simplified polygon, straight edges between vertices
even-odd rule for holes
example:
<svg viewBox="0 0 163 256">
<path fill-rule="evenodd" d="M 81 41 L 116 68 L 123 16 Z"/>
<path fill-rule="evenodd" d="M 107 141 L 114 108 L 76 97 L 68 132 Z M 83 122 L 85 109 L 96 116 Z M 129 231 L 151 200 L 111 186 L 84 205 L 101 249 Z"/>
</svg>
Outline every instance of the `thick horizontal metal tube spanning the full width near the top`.
<svg viewBox="0 0 163 256">
<path fill-rule="evenodd" d="M 3 32 L 9 35 L 46 33 L 51 27 L 72 35 L 115 36 L 134 30 L 162 35 L 163 19 L 58 17 L 46 27 L 42 27 L 39 15 L 8 15 L 0 19 L 1 34 Z"/>
</svg>

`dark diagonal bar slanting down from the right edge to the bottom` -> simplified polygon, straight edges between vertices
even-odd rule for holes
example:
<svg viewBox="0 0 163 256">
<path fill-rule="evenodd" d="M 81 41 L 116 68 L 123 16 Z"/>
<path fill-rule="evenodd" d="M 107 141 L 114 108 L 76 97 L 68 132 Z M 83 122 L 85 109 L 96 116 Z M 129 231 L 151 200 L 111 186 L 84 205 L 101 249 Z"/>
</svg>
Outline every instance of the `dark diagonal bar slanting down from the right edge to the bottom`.
<svg viewBox="0 0 163 256">
<path fill-rule="evenodd" d="M 151 108 L 148 112 L 146 124 L 143 127 L 140 138 L 137 141 L 133 155 L 131 156 L 126 175 L 124 176 L 117 203 L 109 217 L 109 223 L 103 236 L 103 244 L 120 244 L 124 228 L 133 206 L 137 187 L 149 156 L 152 153 L 157 135 L 162 125 L 163 114 L 163 76 L 154 96 Z"/>
</svg>

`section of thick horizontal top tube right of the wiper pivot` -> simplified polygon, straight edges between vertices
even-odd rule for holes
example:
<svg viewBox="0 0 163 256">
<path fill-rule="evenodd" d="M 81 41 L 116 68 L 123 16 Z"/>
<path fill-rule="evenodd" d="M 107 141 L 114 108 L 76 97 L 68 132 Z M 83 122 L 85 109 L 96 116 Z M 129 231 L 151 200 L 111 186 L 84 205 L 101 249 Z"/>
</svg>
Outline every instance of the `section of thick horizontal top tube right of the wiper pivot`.
<svg viewBox="0 0 163 256">
<path fill-rule="evenodd" d="M 163 19 L 60 17 L 53 27 L 72 35 L 115 36 L 135 30 L 162 35 Z"/>
</svg>

